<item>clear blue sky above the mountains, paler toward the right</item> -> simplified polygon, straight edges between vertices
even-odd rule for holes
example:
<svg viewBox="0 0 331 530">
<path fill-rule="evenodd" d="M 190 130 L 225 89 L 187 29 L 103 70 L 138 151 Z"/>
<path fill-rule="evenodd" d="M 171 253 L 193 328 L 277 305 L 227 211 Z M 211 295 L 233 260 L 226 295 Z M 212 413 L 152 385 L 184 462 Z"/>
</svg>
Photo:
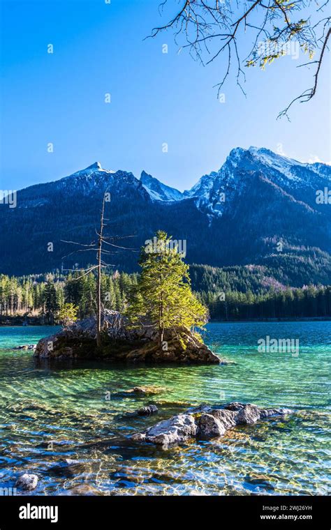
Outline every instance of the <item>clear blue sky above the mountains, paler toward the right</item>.
<svg viewBox="0 0 331 530">
<path fill-rule="evenodd" d="M 184 190 L 219 169 L 236 146 L 277 151 L 281 144 L 286 156 L 330 161 L 327 61 L 316 97 L 293 106 L 290 123 L 277 121 L 312 84 L 313 70 L 295 68 L 300 62 L 290 56 L 250 69 L 247 98 L 232 77 L 220 103 L 213 86 L 225 56 L 203 67 L 177 53 L 171 31 L 143 40 L 166 20 L 157 0 L 0 3 L 2 190 L 57 180 L 95 161 L 137 177 L 145 169 Z M 168 0 L 168 13 L 178 5 Z"/>
</svg>

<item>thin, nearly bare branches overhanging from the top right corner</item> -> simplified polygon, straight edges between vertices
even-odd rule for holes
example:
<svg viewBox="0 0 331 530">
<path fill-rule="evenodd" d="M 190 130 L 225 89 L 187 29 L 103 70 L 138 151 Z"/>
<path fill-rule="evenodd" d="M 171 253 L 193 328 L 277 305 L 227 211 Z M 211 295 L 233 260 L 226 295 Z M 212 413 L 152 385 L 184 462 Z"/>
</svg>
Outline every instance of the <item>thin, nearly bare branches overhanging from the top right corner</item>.
<svg viewBox="0 0 331 530">
<path fill-rule="evenodd" d="M 309 56 L 309 62 L 300 66 L 314 65 L 315 73 L 311 88 L 279 113 L 278 117 L 288 118 L 288 110 L 295 101 L 304 103 L 316 94 L 331 35 L 331 17 L 323 16 L 328 3 L 329 0 L 321 5 L 317 0 L 179 0 L 177 13 L 166 24 L 152 29 L 150 36 L 172 29 L 175 42 L 179 44 L 178 40 L 184 38 L 181 48 L 189 48 L 191 56 L 203 64 L 212 63 L 226 54 L 223 78 L 215 85 L 218 96 L 233 62 L 237 85 L 244 92 L 243 66 L 265 68 L 286 55 L 292 43 L 297 43 Z M 161 13 L 168 4 L 168 0 L 161 2 Z M 242 47 L 246 49 L 242 50 Z M 317 59 L 313 61 L 315 55 Z"/>
</svg>

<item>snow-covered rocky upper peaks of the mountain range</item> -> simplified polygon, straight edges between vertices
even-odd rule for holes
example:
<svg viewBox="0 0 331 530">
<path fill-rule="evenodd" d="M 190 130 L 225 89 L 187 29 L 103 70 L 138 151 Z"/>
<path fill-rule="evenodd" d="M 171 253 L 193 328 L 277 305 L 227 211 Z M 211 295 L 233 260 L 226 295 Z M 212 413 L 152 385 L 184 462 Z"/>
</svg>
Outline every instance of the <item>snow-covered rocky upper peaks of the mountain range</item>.
<svg viewBox="0 0 331 530">
<path fill-rule="evenodd" d="M 260 174 L 293 197 L 304 199 L 311 190 L 323 189 L 323 185 L 330 182 L 331 167 L 322 163 L 298 162 L 282 153 L 251 146 L 249 149 L 232 149 L 219 171 L 203 175 L 191 190 L 183 193 L 163 184 L 145 170 L 138 180 L 131 172 L 103 169 L 100 162 L 61 179 L 61 185 L 74 185 L 86 193 L 101 185 L 114 186 L 121 193 L 134 187 L 154 202 L 193 199 L 198 209 L 221 217 L 230 208 L 233 197 L 245 193 L 254 174 Z"/>
</svg>

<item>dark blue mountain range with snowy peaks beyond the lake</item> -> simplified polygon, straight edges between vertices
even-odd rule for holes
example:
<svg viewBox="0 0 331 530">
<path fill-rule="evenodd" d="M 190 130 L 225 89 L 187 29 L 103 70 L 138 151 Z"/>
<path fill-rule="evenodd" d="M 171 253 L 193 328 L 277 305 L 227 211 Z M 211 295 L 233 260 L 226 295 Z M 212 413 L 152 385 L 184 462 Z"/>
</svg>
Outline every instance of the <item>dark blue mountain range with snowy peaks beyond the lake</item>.
<svg viewBox="0 0 331 530">
<path fill-rule="evenodd" d="M 233 149 L 219 171 L 184 192 L 145 171 L 137 179 L 96 162 L 18 191 L 15 208 L 0 204 L 0 273 L 43 273 L 94 262 L 92 252 L 72 253 L 77 245 L 64 241 L 96 239 L 108 191 L 105 230 L 124 237 L 118 245 L 134 249 L 109 255 L 114 268 L 138 270 L 140 246 L 163 229 L 173 239 L 186 240 L 189 263 L 273 267 L 288 285 L 330 284 L 330 189 L 329 165 L 256 147 Z M 318 192 L 324 201 L 316 199 Z"/>
</svg>

